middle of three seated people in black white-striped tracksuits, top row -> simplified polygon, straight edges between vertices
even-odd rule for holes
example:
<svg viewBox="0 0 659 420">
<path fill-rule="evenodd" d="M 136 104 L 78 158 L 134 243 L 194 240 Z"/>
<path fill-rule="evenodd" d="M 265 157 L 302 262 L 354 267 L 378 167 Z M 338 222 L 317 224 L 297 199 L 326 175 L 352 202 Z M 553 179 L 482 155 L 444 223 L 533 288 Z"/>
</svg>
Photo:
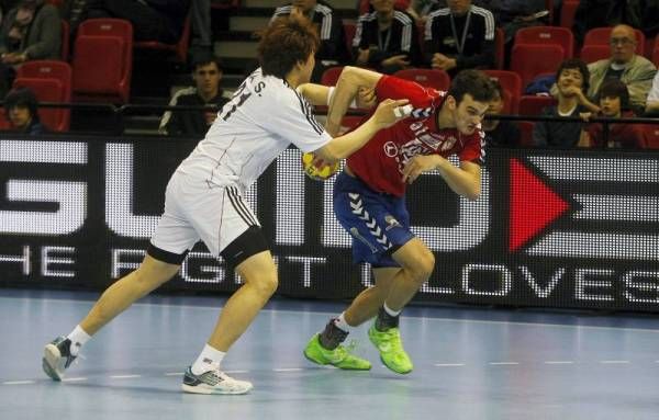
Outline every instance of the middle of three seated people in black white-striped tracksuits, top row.
<svg viewBox="0 0 659 420">
<path fill-rule="evenodd" d="M 356 65 L 393 73 L 421 64 L 414 19 L 393 7 L 393 0 L 371 0 L 373 12 L 357 21 L 353 39 Z"/>
</svg>

